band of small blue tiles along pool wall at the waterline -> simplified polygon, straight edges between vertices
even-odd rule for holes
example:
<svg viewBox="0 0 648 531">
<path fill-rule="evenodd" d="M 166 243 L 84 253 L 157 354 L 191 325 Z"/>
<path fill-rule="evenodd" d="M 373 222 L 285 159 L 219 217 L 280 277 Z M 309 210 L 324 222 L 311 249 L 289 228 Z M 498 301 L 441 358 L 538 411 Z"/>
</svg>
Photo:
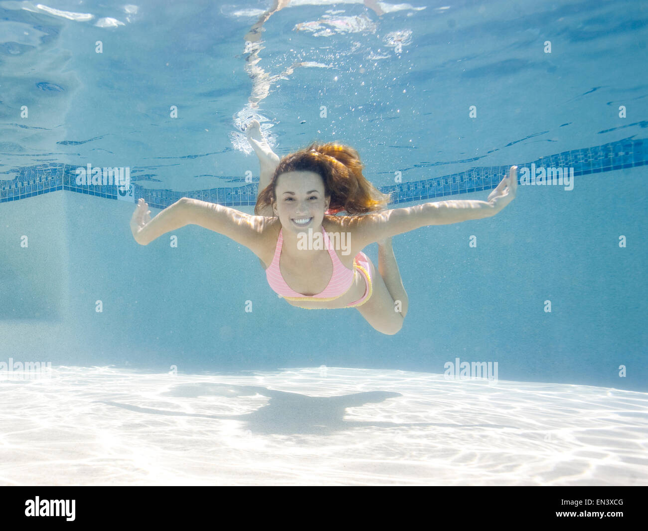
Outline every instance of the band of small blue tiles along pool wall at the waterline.
<svg viewBox="0 0 648 531">
<path fill-rule="evenodd" d="M 623 139 L 594 146 L 540 157 L 528 163 L 511 163 L 507 166 L 475 167 L 469 170 L 438 176 L 421 181 L 384 186 L 380 191 L 392 194 L 390 204 L 402 204 L 452 195 L 492 190 L 506 176 L 510 166 L 570 167 L 574 176 L 614 171 L 648 165 L 648 139 Z M 77 166 L 47 163 L 19 169 L 10 181 L 0 180 L 0 203 L 17 201 L 35 195 L 58 190 L 104 197 L 117 200 L 117 186 L 76 186 Z M 13 169 L 12 172 L 16 171 Z M 257 183 L 240 187 L 212 188 L 176 192 L 173 190 L 148 189 L 135 184 L 135 201 L 143 197 L 149 206 L 164 209 L 181 197 L 191 197 L 224 206 L 255 206 Z"/>
</svg>

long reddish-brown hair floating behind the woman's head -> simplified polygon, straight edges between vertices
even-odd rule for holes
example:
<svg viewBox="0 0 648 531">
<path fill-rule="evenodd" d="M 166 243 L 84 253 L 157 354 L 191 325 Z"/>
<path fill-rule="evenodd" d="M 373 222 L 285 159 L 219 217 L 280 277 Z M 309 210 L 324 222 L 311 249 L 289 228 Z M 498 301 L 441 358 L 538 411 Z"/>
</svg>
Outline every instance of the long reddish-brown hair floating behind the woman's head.
<svg viewBox="0 0 648 531">
<path fill-rule="evenodd" d="M 367 214 L 383 210 L 390 196 L 384 194 L 362 174 L 364 165 L 354 148 L 328 142 L 314 142 L 307 148 L 286 155 L 266 186 L 257 197 L 255 214 L 277 200 L 277 179 L 291 171 L 311 171 L 321 176 L 324 193 L 330 196 L 327 214 L 346 211 L 349 215 Z"/>
</svg>

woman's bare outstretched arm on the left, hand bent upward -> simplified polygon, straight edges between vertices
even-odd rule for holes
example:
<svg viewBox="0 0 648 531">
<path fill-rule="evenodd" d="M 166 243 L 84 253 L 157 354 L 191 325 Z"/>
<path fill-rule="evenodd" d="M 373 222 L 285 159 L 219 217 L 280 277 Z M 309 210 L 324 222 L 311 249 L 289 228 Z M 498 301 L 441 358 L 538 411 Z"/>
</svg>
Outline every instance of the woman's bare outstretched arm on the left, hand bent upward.
<svg viewBox="0 0 648 531">
<path fill-rule="evenodd" d="M 131 228 L 133 222 L 137 224 L 138 213 L 141 217 L 141 212 L 146 211 L 146 208 L 148 206 L 141 199 L 133 213 Z M 148 245 L 169 231 L 194 224 L 227 236 L 259 256 L 263 248 L 265 220 L 263 216 L 252 216 L 234 208 L 183 197 L 139 226 L 139 231 L 133 228 L 133 237 L 137 243 Z"/>
</svg>

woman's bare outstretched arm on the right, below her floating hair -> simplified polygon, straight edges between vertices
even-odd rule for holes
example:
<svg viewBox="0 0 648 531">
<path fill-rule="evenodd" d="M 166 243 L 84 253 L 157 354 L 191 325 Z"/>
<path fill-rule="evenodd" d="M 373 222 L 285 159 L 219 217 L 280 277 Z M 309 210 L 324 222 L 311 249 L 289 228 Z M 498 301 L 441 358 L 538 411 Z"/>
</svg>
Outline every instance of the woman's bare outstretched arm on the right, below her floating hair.
<svg viewBox="0 0 648 531">
<path fill-rule="evenodd" d="M 496 215 L 513 199 L 518 189 L 518 167 L 511 166 L 487 201 L 450 200 L 396 208 L 357 218 L 354 237 L 362 247 L 397 234 L 428 225 L 447 225 Z M 358 241 L 358 240 L 356 240 Z"/>
</svg>

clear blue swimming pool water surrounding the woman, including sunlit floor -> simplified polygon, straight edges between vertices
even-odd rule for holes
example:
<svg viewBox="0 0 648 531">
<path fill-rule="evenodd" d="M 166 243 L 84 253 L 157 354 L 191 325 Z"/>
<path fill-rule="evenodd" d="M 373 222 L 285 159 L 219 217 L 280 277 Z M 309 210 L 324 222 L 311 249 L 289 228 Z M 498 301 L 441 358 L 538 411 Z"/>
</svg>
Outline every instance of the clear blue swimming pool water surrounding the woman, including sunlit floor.
<svg viewBox="0 0 648 531">
<path fill-rule="evenodd" d="M 4 414 L 1 483 L 648 483 L 644 3 L 0 13 L 0 400 L 34 412 Z M 217 233 L 133 241 L 140 197 L 252 213 L 252 119 L 279 156 L 356 148 L 394 208 L 486 200 L 511 165 L 573 180 L 394 237 L 387 336 L 286 304 Z M 88 164 L 130 168 L 128 193 L 78 185 Z M 496 377 L 443 376 L 462 362 Z"/>
</svg>

